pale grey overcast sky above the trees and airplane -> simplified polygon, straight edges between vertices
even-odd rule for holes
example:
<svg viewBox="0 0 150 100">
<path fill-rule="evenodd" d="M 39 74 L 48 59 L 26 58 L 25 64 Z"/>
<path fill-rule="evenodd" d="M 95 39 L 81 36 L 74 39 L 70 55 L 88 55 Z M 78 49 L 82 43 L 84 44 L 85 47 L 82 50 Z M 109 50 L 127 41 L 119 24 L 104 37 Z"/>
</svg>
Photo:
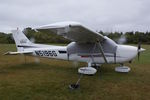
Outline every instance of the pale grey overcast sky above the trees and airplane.
<svg viewBox="0 0 150 100">
<path fill-rule="evenodd" d="M 1 32 L 60 21 L 97 31 L 150 31 L 150 0 L 0 0 Z"/>
</svg>

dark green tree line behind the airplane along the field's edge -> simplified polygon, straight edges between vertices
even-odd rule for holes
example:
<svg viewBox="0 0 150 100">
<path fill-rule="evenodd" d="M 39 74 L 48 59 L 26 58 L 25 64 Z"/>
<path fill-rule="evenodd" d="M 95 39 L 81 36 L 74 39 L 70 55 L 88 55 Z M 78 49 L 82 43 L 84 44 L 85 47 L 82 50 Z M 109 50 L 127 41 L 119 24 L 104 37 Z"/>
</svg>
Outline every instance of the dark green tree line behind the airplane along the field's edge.
<svg viewBox="0 0 150 100">
<path fill-rule="evenodd" d="M 36 32 L 32 28 L 26 28 L 23 30 L 26 36 L 35 43 L 70 43 L 71 41 L 63 38 L 62 36 L 49 33 L 49 32 Z M 150 44 L 150 32 L 103 32 L 100 31 L 100 34 L 108 36 L 113 39 L 115 42 L 119 43 L 122 41 L 126 44 L 137 44 L 141 42 L 143 44 Z M 0 33 L 0 43 L 13 44 L 14 40 L 11 34 Z"/>
</svg>

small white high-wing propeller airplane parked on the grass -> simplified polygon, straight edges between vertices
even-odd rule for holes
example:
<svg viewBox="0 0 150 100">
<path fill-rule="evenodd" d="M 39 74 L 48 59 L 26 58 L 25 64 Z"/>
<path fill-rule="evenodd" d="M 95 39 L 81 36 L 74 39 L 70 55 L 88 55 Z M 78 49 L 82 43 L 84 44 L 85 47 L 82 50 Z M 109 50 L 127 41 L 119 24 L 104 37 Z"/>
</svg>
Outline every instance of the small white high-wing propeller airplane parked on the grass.
<svg viewBox="0 0 150 100">
<path fill-rule="evenodd" d="M 80 74 L 93 75 L 97 72 L 97 64 L 120 64 L 116 67 L 118 72 L 129 72 L 130 68 L 124 66 L 125 62 L 131 62 L 140 52 L 145 49 L 129 45 L 116 44 L 110 38 L 103 36 L 78 22 L 59 22 L 34 28 L 36 31 L 55 33 L 72 42 L 67 46 L 54 46 L 35 44 L 19 29 L 13 30 L 13 38 L 17 52 L 7 52 L 9 55 L 24 54 L 39 57 L 55 58 L 68 61 L 86 62 L 87 67 L 78 69 Z M 70 88 L 77 88 L 80 78 Z"/>
</svg>

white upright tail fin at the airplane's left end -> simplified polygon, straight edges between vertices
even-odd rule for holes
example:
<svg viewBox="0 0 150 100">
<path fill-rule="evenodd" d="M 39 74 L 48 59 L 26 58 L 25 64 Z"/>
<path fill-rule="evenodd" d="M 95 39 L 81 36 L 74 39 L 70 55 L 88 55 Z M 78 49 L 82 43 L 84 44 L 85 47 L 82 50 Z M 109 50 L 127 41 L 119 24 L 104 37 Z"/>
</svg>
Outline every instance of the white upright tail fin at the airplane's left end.
<svg viewBox="0 0 150 100">
<path fill-rule="evenodd" d="M 33 43 L 25 36 L 25 34 L 20 30 L 12 30 L 13 38 L 16 43 L 18 51 L 24 51 L 24 46 L 30 46 Z"/>
</svg>

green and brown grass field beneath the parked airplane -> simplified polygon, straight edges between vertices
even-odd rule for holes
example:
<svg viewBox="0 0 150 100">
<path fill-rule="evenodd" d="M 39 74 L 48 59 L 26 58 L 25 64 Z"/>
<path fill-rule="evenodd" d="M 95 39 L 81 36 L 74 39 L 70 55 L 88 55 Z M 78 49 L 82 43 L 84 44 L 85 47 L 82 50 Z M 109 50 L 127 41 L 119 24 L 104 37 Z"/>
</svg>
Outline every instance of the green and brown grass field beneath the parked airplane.
<svg viewBox="0 0 150 100">
<path fill-rule="evenodd" d="M 117 65 L 102 65 L 101 72 L 84 76 L 80 89 L 68 85 L 77 81 L 78 67 L 73 62 L 34 57 L 4 56 L 15 45 L 0 44 L 0 100 L 149 100 L 150 45 L 135 59 L 129 73 L 114 71 Z"/>
</svg>

